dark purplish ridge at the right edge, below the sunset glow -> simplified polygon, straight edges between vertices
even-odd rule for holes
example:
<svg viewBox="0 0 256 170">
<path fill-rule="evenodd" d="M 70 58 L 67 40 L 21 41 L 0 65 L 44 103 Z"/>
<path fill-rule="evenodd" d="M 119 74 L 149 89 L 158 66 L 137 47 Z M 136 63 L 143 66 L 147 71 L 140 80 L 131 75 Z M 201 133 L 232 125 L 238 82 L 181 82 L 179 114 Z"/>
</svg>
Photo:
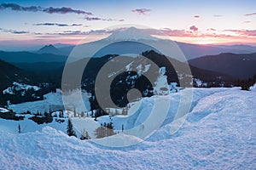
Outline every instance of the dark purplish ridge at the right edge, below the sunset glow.
<svg viewBox="0 0 256 170">
<path fill-rule="evenodd" d="M 236 79 L 247 79 L 256 74 L 256 53 L 206 55 L 190 59 L 189 65 L 228 74 Z"/>
</svg>

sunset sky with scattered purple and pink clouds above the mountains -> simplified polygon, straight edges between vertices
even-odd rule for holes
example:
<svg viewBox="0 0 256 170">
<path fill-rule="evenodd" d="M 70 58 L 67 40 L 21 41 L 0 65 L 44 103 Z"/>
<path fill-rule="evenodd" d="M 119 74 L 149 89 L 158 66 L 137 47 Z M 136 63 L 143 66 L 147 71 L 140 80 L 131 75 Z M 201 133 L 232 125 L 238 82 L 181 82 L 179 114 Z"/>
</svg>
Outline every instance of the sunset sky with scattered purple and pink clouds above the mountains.
<svg viewBox="0 0 256 170">
<path fill-rule="evenodd" d="M 109 27 L 143 25 L 151 35 L 195 44 L 256 46 L 256 1 L 0 0 L 0 47 L 77 44 Z"/>
</svg>

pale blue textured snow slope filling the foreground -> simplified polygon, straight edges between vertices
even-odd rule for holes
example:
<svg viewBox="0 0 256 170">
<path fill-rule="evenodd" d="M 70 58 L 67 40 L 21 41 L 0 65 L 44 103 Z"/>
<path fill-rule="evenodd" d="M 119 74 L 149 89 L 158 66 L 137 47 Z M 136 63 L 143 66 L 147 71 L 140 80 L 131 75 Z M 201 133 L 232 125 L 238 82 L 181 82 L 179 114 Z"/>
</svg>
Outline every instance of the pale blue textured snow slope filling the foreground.
<svg viewBox="0 0 256 170">
<path fill-rule="evenodd" d="M 177 133 L 170 135 L 167 117 L 147 141 L 125 148 L 81 141 L 52 127 L 18 134 L 6 131 L 11 123 L 0 119 L 0 169 L 254 169 L 254 89 L 195 88 L 191 111 Z M 124 133 L 97 140 L 129 139 L 139 141 Z"/>
</svg>

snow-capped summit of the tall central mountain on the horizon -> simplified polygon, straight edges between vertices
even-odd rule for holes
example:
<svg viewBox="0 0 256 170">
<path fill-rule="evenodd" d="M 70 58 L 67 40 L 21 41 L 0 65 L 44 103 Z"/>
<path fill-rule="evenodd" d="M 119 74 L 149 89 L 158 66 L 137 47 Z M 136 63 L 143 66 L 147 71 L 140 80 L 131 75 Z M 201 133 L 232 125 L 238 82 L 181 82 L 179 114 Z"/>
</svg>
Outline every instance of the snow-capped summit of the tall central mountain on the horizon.
<svg viewBox="0 0 256 170">
<path fill-rule="evenodd" d="M 112 35 L 106 38 L 110 41 L 134 41 L 134 40 L 157 40 L 157 38 L 150 36 L 148 33 L 142 29 L 137 29 L 135 27 L 119 29 L 113 31 Z"/>
</svg>

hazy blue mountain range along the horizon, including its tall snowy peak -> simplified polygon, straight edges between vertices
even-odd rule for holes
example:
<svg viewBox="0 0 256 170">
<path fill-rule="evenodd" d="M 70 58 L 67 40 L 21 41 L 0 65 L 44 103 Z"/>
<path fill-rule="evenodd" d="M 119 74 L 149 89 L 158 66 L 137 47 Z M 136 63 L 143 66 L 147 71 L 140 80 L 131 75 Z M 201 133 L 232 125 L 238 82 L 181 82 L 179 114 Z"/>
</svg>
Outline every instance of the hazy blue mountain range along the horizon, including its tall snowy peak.
<svg viewBox="0 0 256 170">
<path fill-rule="evenodd" d="M 152 47 L 148 44 L 151 44 Z M 198 45 L 184 42 L 173 42 L 171 40 L 152 37 L 145 31 L 130 27 L 120 31 L 113 31 L 112 35 L 96 42 L 79 44 L 78 46 L 68 44 L 49 44 L 31 52 L 3 52 L 0 51 L 0 59 L 8 62 L 62 62 L 76 47 L 73 60 L 82 57 L 102 57 L 106 54 L 141 54 L 147 50 L 170 52 L 165 54 L 174 59 L 184 61 L 177 46 L 182 50 L 186 59 L 195 59 L 204 55 L 217 55 L 221 53 L 249 54 L 256 53 L 256 47 L 248 45 Z M 107 46 L 107 47 L 105 47 Z M 104 47 L 104 48 L 102 48 Z M 158 48 L 156 48 L 158 47 Z M 3 54 L 6 53 L 6 54 Z M 36 54 L 44 54 L 36 55 Z M 50 55 L 54 54 L 54 55 Z M 55 55 L 66 56 L 57 57 Z M 7 57 L 8 56 L 8 57 Z M 17 57 L 20 56 L 20 57 Z"/>
</svg>

